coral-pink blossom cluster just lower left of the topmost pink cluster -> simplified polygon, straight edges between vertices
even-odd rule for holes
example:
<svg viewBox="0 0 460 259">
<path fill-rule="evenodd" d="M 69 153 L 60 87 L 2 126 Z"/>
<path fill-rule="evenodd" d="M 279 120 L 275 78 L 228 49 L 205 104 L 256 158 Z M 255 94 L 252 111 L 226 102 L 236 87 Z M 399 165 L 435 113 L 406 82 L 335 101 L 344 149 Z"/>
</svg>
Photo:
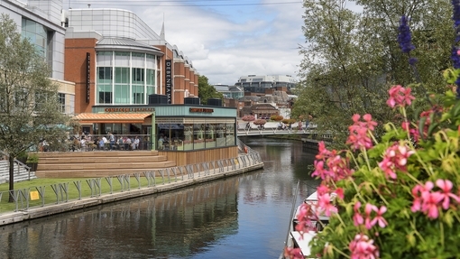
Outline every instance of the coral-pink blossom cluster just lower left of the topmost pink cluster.
<svg viewBox="0 0 460 259">
<path fill-rule="evenodd" d="M 361 147 L 370 149 L 373 147 L 373 141 L 369 137 L 368 131 L 373 131 L 377 125 L 373 121 L 373 116 L 366 114 L 363 116 L 363 121 L 360 121 L 360 115 L 354 115 L 352 117 L 354 124 L 348 127 L 350 135 L 346 140 L 346 143 L 350 143 L 354 150 L 359 150 Z"/>
</svg>

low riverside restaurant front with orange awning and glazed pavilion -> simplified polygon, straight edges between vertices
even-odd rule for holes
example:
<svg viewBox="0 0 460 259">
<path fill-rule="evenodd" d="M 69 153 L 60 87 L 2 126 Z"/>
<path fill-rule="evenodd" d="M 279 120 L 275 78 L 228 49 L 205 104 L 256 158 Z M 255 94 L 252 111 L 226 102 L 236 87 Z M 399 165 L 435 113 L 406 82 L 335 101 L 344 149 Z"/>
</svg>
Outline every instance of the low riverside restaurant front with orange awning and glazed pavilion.
<svg viewBox="0 0 460 259">
<path fill-rule="evenodd" d="M 236 109 L 221 106 L 94 106 L 75 116 L 82 133 L 115 138 L 115 149 L 185 152 L 236 146 Z M 114 149 L 114 146 L 111 146 Z"/>
</svg>

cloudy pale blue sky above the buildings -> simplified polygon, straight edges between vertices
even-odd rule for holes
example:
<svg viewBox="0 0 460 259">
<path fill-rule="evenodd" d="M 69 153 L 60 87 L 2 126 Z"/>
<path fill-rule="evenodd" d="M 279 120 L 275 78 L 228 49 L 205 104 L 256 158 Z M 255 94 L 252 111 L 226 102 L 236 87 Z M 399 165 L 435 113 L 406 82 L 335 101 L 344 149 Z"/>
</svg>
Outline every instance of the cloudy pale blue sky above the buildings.
<svg viewBox="0 0 460 259">
<path fill-rule="evenodd" d="M 209 84 L 299 74 L 302 0 L 63 0 L 64 8 L 130 10 L 182 51 Z"/>
</svg>

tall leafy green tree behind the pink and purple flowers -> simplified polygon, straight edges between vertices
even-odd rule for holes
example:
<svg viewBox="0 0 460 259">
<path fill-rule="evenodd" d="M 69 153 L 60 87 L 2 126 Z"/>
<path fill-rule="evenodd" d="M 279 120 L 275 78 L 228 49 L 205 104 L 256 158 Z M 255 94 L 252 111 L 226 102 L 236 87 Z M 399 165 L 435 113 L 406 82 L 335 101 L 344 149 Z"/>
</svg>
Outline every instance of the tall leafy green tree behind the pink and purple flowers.
<svg viewBox="0 0 460 259">
<path fill-rule="evenodd" d="M 307 44 L 300 50 L 302 80 L 291 116 L 312 116 L 319 130 L 335 132 L 336 143 L 345 143 L 354 114 L 395 121 L 394 113 L 381 108 L 391 85 L 423 82 L 412 87 L 420 102 L 426 102 L 420 97 L 427 91 L 441 92 L 442 70 L 450 58 L 446 45 L 455 36 L 443 27 L 452 14 L 446 1 L 355 2 L 363 13 L 347 9 L 346 1 L 304 1 Z M 402 14 L 410 18 L 412 42 L 418 47 L 411 53 L 419 59 L 417 74 L 396 41 Z M 381 134 L 382 128 L 377 129 L 376 136 Z"/>
</svg>

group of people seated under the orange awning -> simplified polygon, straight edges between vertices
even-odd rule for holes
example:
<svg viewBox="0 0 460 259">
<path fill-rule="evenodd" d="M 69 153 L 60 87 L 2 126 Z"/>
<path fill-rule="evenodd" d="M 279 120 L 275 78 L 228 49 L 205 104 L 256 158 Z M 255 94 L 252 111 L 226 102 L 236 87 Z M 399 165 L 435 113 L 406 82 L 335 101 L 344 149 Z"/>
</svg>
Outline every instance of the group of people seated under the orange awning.
<svg viewBox="0 0 460 259">
<path fill-rule="evenodd" d="M 112 133 L 103 136 L 93 137 L 91 134 L 83 134 L 80 138 L 75 137 L 72 144 L 72 151 L 81 149 L 92 150 L 137 150 L 141 140 L 138 136 L 119 136 Z"/>
</svg>

